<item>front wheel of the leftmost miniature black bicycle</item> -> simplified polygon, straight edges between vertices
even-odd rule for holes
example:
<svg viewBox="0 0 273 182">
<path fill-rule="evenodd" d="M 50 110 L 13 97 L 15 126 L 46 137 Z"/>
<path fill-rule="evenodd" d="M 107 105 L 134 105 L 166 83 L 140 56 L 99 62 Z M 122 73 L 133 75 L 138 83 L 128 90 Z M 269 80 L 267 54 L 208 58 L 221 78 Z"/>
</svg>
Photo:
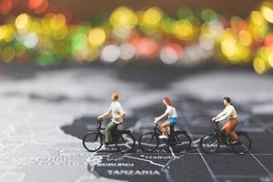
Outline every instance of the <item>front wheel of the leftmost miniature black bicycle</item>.
<svg viewBox="0 0 273 182">
<path fill-rule="evenodd" d="M 89 152 L 96 152 L 102 147 L 103 138 L 96 132 L 87 133 L 83 138 L 83 145 Z"/>
</svg>

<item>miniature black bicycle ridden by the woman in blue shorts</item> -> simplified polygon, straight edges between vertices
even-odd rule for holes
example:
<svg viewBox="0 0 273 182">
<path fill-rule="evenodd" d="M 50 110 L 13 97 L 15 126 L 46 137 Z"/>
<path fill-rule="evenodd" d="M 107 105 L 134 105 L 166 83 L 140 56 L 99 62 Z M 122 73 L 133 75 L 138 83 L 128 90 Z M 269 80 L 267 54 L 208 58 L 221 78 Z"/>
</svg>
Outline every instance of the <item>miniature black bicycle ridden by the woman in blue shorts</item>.
<svg viewBox="0 0 273 182">
<path fill-rule="evenodd" d="M 154 152 L 159 147 L 159 136 L 162 133 L 157 126 L 158 124 L 153 127 L 153 132 L 147 132 L 139 137 L 138 144 L 143 151 Z M 168 138 L 162 140 L 178 154 L 187 153 L 191 147 L 191 138 L 187 135 L 187 131 L 175 131 L 174 126 L 170 126 Z"/>
</svg>

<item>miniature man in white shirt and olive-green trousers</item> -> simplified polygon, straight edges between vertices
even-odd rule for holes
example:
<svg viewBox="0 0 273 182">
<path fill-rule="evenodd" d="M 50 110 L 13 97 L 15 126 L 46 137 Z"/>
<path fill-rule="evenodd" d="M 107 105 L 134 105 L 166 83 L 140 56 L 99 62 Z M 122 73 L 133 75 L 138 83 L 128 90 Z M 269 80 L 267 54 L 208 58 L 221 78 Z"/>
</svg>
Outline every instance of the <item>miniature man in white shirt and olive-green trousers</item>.
<svg viewBox="0 0 273 182">
<path fill-rule="evenodd" d="M 114 92 L 112 94 L 112 103 L 109 109 L 106 111 L 106 113 L 102 114 L 101 116 L 98 116 L 97 119 L 102 119 L 105 116 L 112 116 L 111 122 L 106 126 L 105 135 L 106 140 L 104 144 L 107 146 L 112 143 L 112 131 L 114 131 L 117 128 L 117 125 L 123 122 L 123 117 L 126 116 L 125 111 L 119 104 L 118 100 L 118 94 Z"/>
</svg>

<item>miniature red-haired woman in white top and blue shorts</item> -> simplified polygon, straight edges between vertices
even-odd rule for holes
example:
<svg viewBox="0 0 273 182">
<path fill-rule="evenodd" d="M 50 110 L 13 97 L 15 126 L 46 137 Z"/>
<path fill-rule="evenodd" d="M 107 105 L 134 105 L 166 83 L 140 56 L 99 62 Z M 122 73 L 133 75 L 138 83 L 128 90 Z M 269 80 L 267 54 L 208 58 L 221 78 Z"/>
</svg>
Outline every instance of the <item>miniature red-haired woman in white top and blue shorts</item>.
<svg viewBox="0 0 273 182">
<path fill-rule="evenodd" d="M 169 126 L 174 126 L 177 124 L 177 110 L 173 106 L 170 99 L 168 97 L 164 97 L 163 104 L 167 107 L 167 109 L 163 115 L 155 117 L 155 123 L 166 116 L 168 116 L 168 118 L 160 125 L 160 131 L 162 132 L 162 135 L 159 136 L 159 138 L 167 138 L 167 135 L 170 133 Z"/>
</svg>

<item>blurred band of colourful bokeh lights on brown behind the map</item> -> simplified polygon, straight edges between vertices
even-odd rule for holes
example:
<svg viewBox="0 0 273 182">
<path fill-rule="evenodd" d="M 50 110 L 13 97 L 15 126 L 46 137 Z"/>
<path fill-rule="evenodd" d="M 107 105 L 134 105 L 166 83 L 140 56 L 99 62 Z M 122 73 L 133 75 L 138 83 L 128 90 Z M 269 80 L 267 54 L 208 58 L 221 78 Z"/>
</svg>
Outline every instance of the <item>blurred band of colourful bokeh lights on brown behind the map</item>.
<svg viewBox="0 0 273 182">
<path fill-rule="evenodd" d="M 273 2 L 0 0 L 0 61 L 273 68 Z"/>
</svg>

